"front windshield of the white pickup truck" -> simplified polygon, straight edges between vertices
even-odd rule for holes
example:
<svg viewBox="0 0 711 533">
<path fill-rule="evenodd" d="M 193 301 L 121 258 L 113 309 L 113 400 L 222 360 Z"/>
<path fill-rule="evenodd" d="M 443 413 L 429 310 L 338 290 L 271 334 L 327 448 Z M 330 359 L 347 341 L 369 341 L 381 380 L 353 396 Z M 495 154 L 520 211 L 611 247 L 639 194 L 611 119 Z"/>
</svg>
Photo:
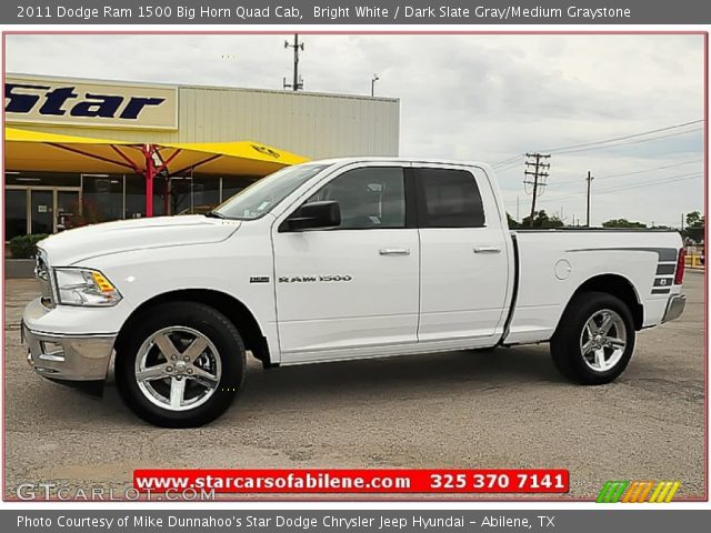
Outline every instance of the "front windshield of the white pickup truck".
<svg viewBox="0 0 711 533">
<path fill-rule="evenodd" d="M 307 163 L 281 169 L 238 192 L 208 214 L 224 219 L 259 219 L 327 167 Z"/>
</svg>

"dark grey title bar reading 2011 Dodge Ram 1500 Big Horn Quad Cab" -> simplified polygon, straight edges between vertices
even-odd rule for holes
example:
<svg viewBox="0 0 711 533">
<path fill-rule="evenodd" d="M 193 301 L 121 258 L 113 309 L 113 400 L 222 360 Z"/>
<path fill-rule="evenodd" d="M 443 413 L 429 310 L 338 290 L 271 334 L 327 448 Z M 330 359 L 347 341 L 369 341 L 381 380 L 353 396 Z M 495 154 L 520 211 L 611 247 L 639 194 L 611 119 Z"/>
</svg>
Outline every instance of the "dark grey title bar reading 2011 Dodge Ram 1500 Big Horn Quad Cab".
<svg viewBox="0 0 711 533">
<path fill-rule="evenodd" d="M 703 0 L 12 0 L 2 24 L 707 24 Z"/>
</svg>

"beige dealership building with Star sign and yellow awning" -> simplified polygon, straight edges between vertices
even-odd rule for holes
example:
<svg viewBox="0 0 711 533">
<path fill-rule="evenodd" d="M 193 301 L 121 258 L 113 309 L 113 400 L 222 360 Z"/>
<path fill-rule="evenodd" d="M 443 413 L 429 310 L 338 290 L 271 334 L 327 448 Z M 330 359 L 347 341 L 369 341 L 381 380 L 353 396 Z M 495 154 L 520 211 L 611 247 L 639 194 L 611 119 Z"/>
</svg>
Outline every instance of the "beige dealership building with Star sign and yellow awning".
<svg viewBox="0 0 711 533">
<path fill-rule="evenodd" d="M 204 212 L 288 164 L 397 155 L 392 98 L 7 74 L 6 241 Z"/>
</svg>

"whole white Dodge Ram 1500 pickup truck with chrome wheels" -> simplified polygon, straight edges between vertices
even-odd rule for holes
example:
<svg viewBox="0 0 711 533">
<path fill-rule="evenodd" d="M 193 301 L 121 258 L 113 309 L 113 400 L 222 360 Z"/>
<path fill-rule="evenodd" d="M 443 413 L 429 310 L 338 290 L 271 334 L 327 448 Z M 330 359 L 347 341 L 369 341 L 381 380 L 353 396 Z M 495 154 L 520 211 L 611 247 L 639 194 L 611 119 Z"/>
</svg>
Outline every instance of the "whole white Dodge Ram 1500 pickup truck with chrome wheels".
<svg viewBox="0 0 711 533">
<path fill-rule="evenodd" d="M 509 231 L 485 164 L 289 167 L 206 215 L 109 222 L 39 244 L 28 361 L 106 380 L 142 419 L 218 418 L 266 368 L 550 342 L 582 384 L 614 380 L 635 332 L 678 318 L 675 232 Z"/>
</svg>

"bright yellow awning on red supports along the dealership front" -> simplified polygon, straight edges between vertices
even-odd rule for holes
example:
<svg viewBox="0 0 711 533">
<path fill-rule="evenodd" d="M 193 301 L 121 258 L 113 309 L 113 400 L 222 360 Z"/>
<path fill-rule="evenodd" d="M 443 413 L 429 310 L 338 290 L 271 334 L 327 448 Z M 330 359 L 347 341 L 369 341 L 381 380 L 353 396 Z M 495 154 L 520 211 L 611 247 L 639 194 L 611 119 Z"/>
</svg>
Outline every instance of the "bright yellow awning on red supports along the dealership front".
<svg viewBox="0 0 711 533">
<path fill-rule="evenodd" d="M 143 144 L 6 128 L 6 169 L 132 173 L 146 170 Z M 156 143 L 170 174 L 267 175 L 307 158 L 260 142 Z"/>
</svg>

